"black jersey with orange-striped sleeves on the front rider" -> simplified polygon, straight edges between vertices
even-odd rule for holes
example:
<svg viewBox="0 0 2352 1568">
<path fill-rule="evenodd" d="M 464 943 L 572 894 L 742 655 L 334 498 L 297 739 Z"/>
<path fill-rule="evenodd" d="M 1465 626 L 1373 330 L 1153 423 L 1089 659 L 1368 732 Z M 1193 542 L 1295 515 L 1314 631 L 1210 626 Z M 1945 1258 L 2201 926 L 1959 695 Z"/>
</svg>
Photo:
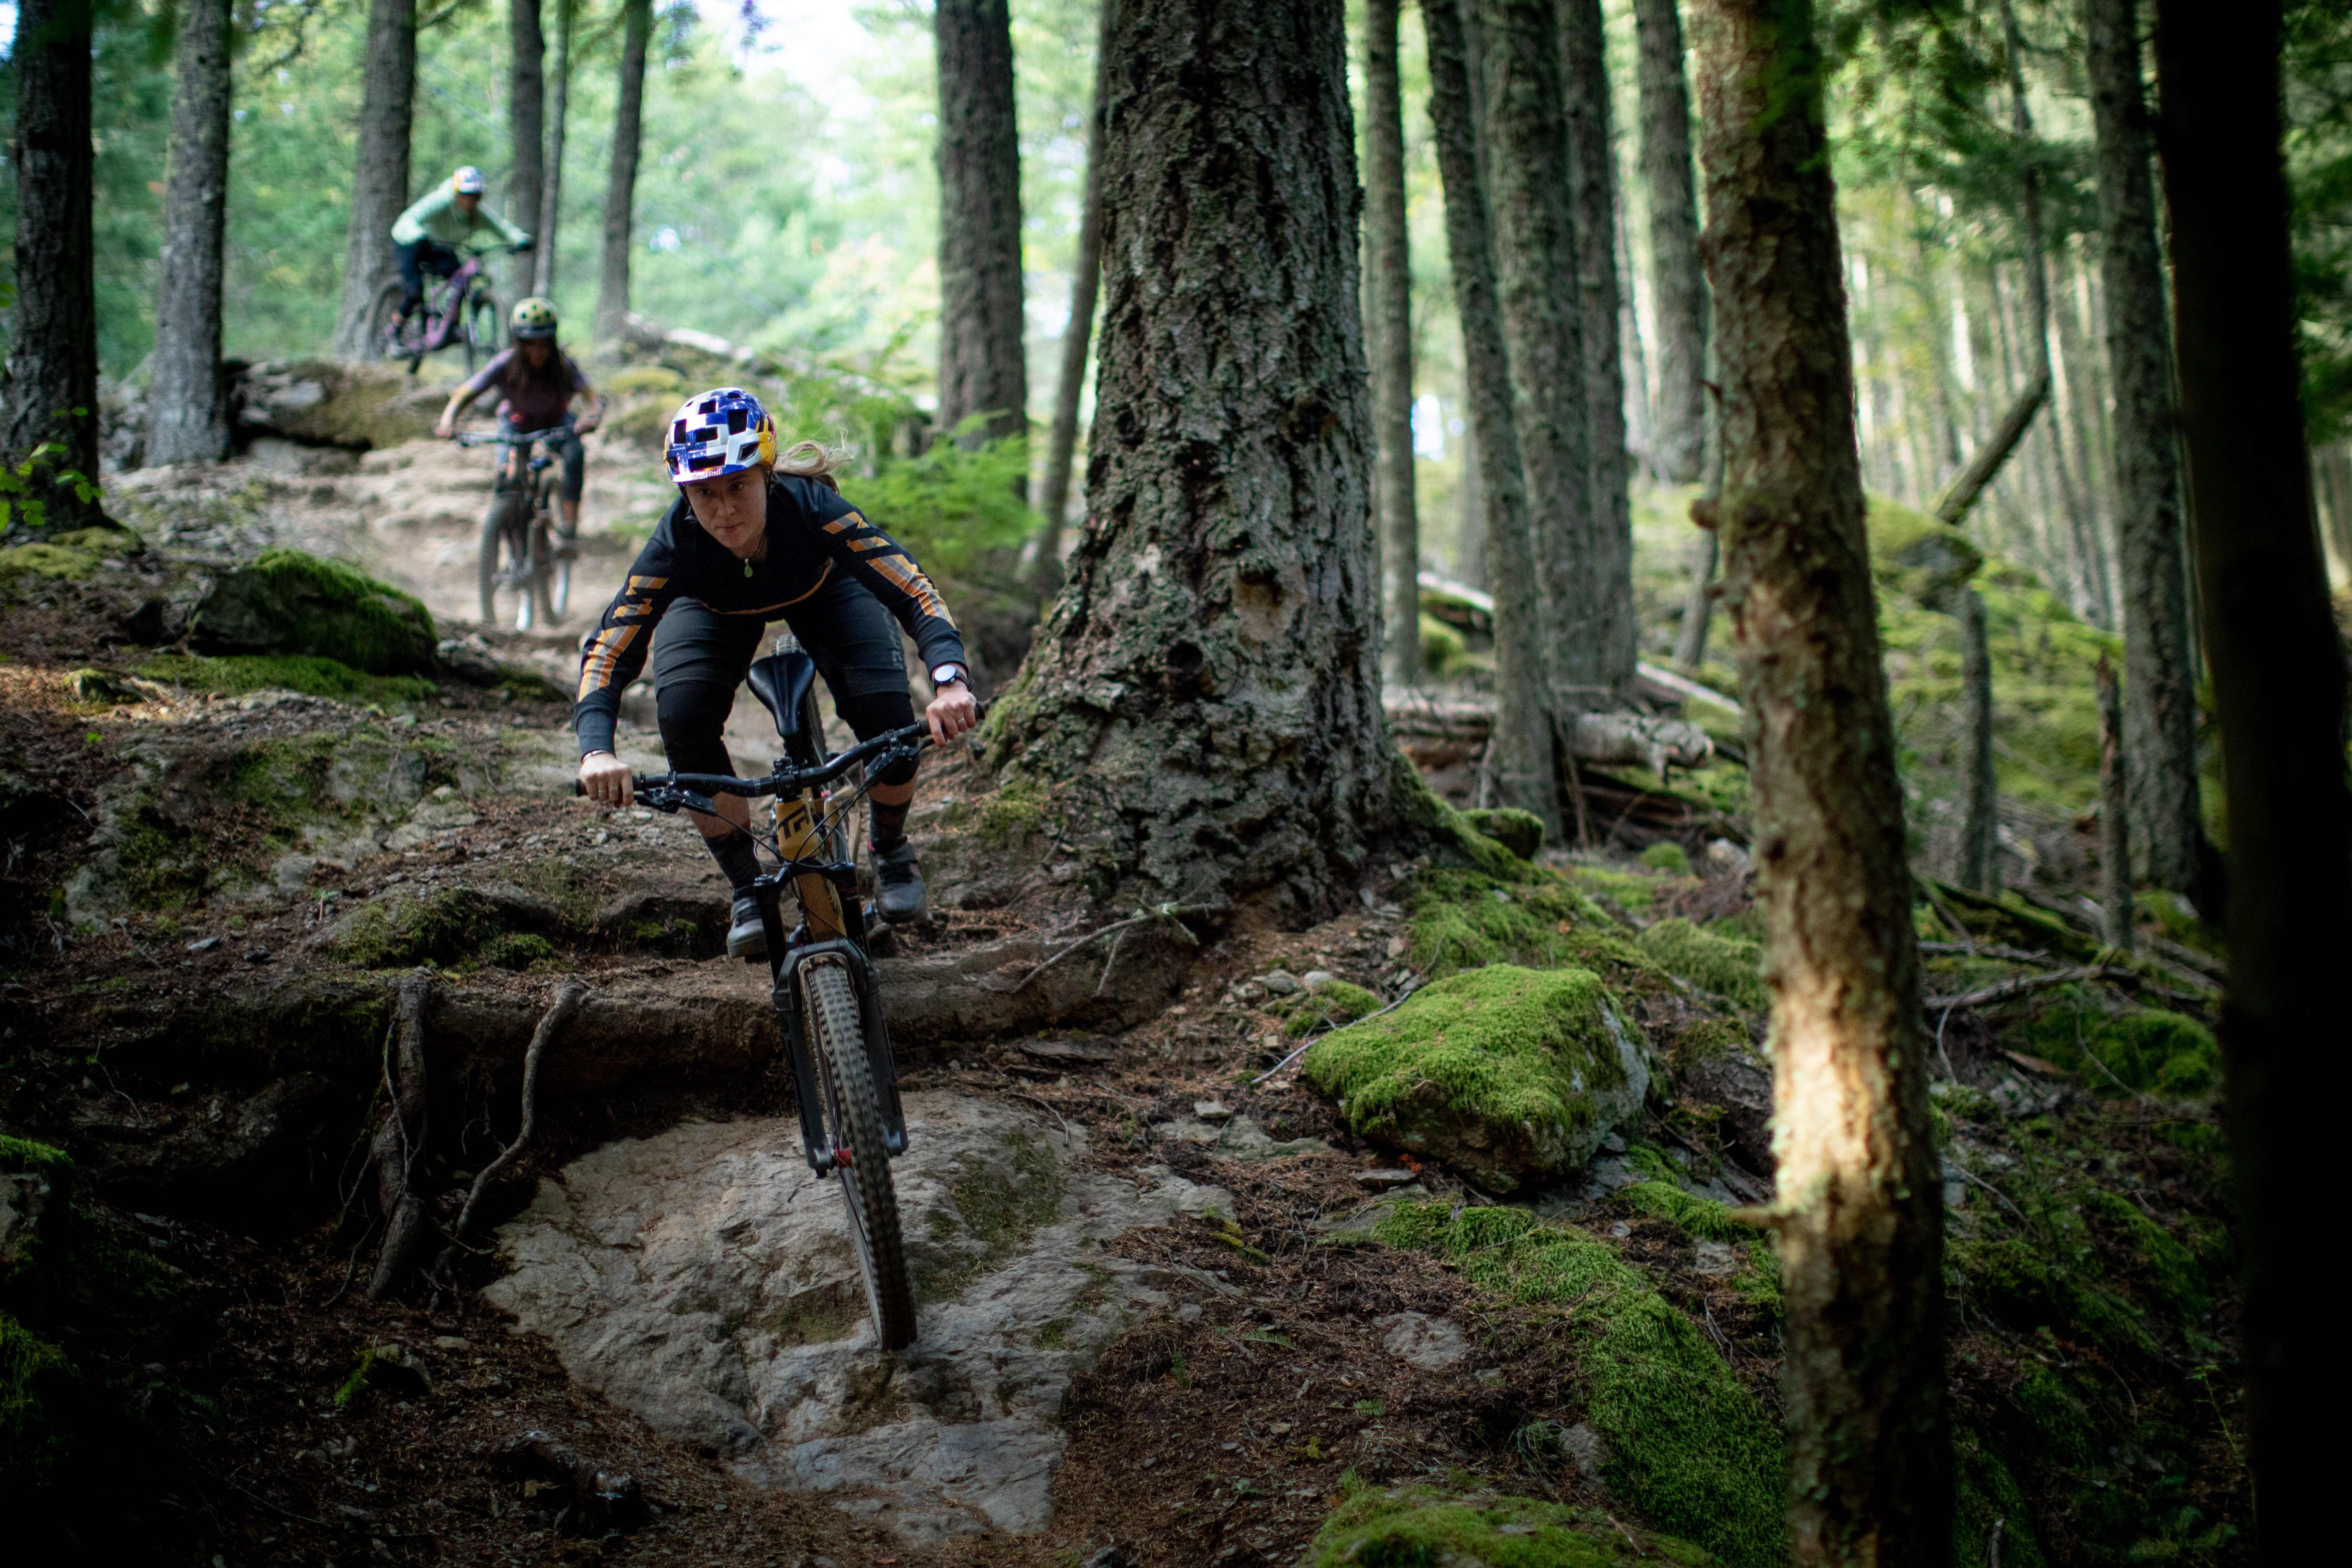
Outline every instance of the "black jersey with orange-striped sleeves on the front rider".
<svg viewBox="0 0 2352 1568">
<path fill-rule="evenodd" d="M 581 691 L 572 705 L 581 755 L 609 752 L 621 691 L 644 670 L 654 625 L 673 599 L 699 599 L 722 616 L 781 621 L 783 611 L 837 571 L 863 583 L 922 649 L 924 668 L 967 663 L 948 602 L 931 588 L 915 557 L 866 522 L 828 484 L 783 477 L 767 487 L 767 557 L 743 562 L 694 522 L 680 496 L 637 552 L 628 581 L 604 609 L 604 621 L 581 646 Z"/>
</svg>

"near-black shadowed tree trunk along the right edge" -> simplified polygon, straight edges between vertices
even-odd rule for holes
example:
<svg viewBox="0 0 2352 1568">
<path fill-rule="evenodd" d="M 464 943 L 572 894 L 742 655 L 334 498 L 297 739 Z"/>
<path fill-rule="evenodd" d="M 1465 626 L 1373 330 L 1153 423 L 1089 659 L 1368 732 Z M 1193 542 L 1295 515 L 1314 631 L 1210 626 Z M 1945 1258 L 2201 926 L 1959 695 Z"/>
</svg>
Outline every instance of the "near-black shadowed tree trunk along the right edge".
<svg viewBox="0 0 2352 1568">
<path fill-rule="evenodd" d="M 2352 952 L 2345 665 L 2303 461 L 2279 129 L 2279 0 L 2161 0 L 2157 141 L 2227 797 L 2220 1044 L 2265 1566 L 2312 1561 L 2340 1512 L 2336 1448 L 2312 1436 L 2345 1401 L 2340 1312 L 2300 1244 L 2338 1164 Z"/>
</svg>

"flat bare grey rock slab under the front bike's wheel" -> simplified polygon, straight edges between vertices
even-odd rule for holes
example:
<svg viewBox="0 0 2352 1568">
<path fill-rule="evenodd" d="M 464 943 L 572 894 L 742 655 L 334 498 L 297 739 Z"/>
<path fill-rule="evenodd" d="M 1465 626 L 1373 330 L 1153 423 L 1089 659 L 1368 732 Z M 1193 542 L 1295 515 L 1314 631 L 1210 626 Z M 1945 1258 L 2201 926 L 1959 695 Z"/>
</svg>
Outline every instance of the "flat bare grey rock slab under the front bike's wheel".
<svg viewBox="0 0 2352 1568">
<path fill-rule="evenodd" d="M 604 1145 L 499 1232 L 485 1295 L 583 1387 L 731 1455 L 760 1486 L 830 1493 L 910 1544 L 1051 1519 L 1063 1392 L 1190 1269 L 1103 1251 L 1232 1211 L 1167 1166 L 1068 1171 L 1084 1138 L 995 1100 L 906 1098 L 891 1161 L 920 1340 L 875 1349 L 847 1215 L 797 1121 L 703 1121 Z"/>
</svg>

